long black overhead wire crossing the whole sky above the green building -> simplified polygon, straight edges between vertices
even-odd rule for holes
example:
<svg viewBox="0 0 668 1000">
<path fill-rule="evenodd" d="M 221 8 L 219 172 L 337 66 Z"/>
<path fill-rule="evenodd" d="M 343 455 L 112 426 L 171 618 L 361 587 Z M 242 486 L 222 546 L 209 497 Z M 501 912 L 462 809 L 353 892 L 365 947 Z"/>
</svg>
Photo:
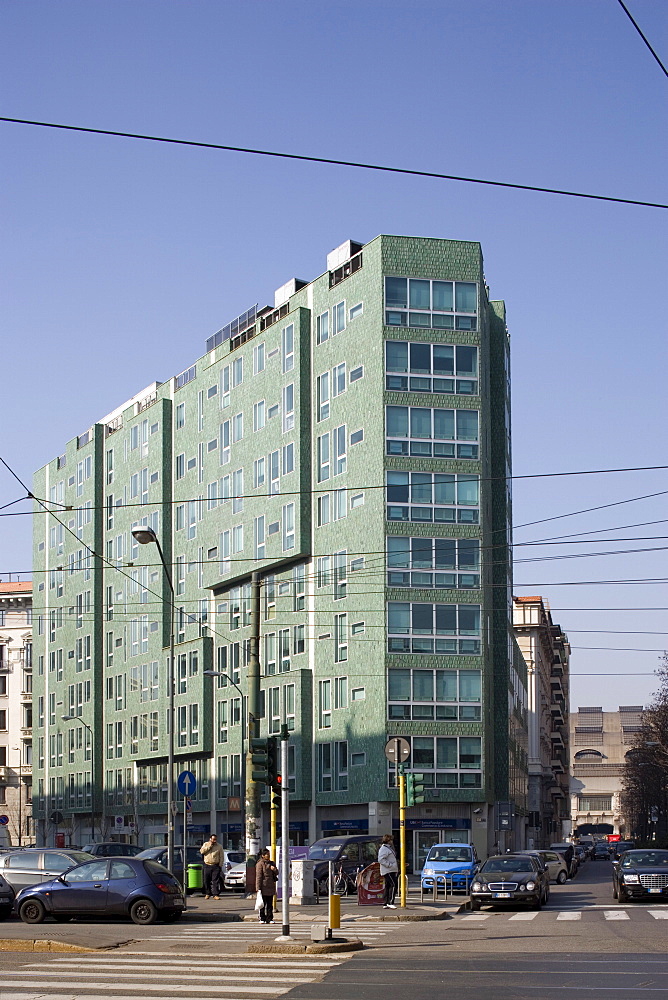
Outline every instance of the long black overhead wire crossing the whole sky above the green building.
<svg viewBox="0 0 668 1000">
<path fill-rule="evenodd" d="M 337 160 L 326 156 L 307 156 L 300 153 L 283 153 L 272 149 L 257 149 L 249 146 L 231 146 L 217 142 L 197 142 L 192 139 L 174 139 L 168 136 L 148 135 L 141 132 L 121 132 L 117 129 L 89 128 L 82 125 L 65 125 L 62 122 L 42 122 L 28 118 L 0 117 L 0 121 L 14 125 L 35 125 L 40 128 L 61 129 L 69 132 L 84 132 L 92 135 L 108 135 L 122 139 L 142 139 L 146 142 L 162 142 L 176 146 L 194 146 L 200 149 L 218 149 L 231 153 L 249 153 L 253 156 L 271 156 L 283 160 L 299 160 L 305 163 L 324 163 L 330 166 L 355 167 L 360 170 L 376 170 L 382 173 L 405 174 L 409 177 L 428 177 L 434 180 L 461 181 L 467 184 L 482 184 L 490 187 L 511 188 L 519 191 L 536 191 L 542 194 L 558 194 L 569 198 L 585 198 L 593 201 L 614 202 L 623 205 L 639 205 L 644 208 L 668 208 L 667 204 L 641 201 L 637 198 L 618 198 L 612 195 L 591 194 L 584 191 L 569 191 L 562 188 L 542 187 L 536 184 L 516 184 L 510 181 L 493 181 L 481 177 L 464 177 L 458 174 L 443 174 L 432 170 L 415 170 L 407 167 L 389 167 L 379 163 L 364 163 L 357 160 Z"/>
</svg>

